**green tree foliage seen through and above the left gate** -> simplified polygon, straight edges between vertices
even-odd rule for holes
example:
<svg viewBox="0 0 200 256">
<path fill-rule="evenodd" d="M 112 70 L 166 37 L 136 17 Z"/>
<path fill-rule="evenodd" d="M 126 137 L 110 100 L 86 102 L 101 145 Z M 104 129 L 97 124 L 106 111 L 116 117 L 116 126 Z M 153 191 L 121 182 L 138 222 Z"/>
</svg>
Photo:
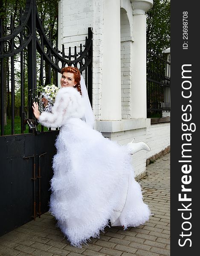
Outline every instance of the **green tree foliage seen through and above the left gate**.
<svg viewBox="0 0 200 256">
<path fill-rule="evenodd" d="M 58 0 L 36 0 L 38 15 L 41 18 L 43 29 L 47 38 L 50 36 L 51 43 L 53 46 L 56 45 L 56 40 L 58 38 Z M 10 24 L 11 17 L 13 18 L 14 28 L 17 28 L 20 22 L 20 15 L 23 15 L 23 10 L 26 6 L 26 0 L 0 0 L 0 19 L 2 20 L 2 28 L 3 28 L 3 36 L 10 34 Z M 27 73 L 27 49 L 24 48 L 24 61 L 23 61 L 23 74 L 20 73 L 20 55 L 14 56 L 14 93 L 15 93 L 15 107 L 20 107 L 20 81 L 21 76 L 24 77 L 24 102 L 25 106 L 27 106 L 28 102 L 28 73 Z M 46 67 L 45 67 L 46 68 Z M 44 72 L 46 71 L 44 68 Z M 40 56 L 37 52 L 37 77 L 38 81 L 40 81 Z M 4 99 L 7 99 L 7 107 L 6 100 L 4 106 L 4 113 L 10 116 L 10 83 L 7 82 L 7 78 L 10 78 L 10 58 L 4 59 Z M 47 76 L 47 75 L 46 75 Z M 45 79 L 45 75 L 44 75 Z M 6 120 L 5 120 L 6 124 Z"/>
</svg>

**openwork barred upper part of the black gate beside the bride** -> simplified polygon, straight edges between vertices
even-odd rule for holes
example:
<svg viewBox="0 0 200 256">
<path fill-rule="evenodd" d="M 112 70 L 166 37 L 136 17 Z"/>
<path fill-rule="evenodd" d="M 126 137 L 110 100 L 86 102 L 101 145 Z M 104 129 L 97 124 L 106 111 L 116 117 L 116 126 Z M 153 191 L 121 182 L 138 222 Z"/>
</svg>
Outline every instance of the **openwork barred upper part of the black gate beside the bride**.
<svg viewBox="0 0 200 256">
<path fill-rule="evenodd" d="M 51 35 L 47 37 L 43 30 L 36 0 L 26 0 L 25 10 L 21 13 L 19 20 L 16 22 L 11 17 L 9 27 L 0 20 L 0 135 L 24 133 L 25 115 L 32 119 L 33 92 L 38 85 L 43 87 L 44 81 L 45 84 L 52 81 L 58 84 L 58 73 L 62 67 L 74 66 L 78 67 L 81 73 L 84 71 L 92 103 L 91 28 L 88 29 L 85 44 L 81 44 L 78 49 L 79 52 L 76 46 L 74 49 L 70 47 L 66 54 L 64 45 L 61 51 L 58 50 L 58 44 L 52 45 Z M 17 81 L 20 87 L 20 132 L 15 131 L 14 108 Z M 25 84 L 28 85 L 25 86 Z M 5 131 L 6 116 L 11 119 L 10 133 Z"/>
</svg>

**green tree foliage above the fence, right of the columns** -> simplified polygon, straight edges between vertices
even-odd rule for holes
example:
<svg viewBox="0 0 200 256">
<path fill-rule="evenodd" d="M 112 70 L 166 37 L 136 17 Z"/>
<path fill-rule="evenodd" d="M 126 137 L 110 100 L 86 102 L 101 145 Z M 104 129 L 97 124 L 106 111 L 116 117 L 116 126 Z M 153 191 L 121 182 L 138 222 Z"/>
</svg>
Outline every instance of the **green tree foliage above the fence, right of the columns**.
<svg viewBox="0 0 200 256">
<path fill-rule="evenodd" d="M 155 52 L 170 47 L 170 0 L 154 0 L 147 15 L 147 48 Z"/>
</svg>

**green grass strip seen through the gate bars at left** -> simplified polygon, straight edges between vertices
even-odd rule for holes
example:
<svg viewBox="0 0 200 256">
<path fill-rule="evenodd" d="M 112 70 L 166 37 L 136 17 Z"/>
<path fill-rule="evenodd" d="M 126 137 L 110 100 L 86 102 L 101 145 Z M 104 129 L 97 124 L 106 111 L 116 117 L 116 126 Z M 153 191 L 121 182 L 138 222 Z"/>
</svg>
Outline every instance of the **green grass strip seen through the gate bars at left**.
<svg viewBox="0 0 200 256">
<path fill-rule="evenodd" d="M 38 130 L 41 131 L 41 124 L 38 124 Z M 48 131 L 48 128 L 44 127 L 44 131 Z M 28 125 L 24 134 L 29 133 Z M 14 134 L 21 134 L 21 118 L 20 116 L 14 117 Z M 7 117 L 7 125 L 4 126 L 4 135 L 11 135 L 11 119 Z"/>
</svg>

